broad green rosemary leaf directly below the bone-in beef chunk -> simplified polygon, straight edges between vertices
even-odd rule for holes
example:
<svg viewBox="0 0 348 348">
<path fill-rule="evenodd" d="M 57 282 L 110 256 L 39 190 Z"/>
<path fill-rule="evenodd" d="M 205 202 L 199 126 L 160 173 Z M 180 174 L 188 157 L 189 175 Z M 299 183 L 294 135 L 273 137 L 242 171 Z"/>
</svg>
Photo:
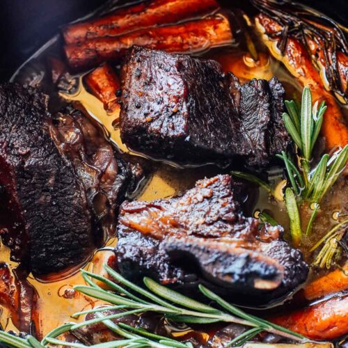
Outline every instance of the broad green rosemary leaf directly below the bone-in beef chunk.
<svg viewBox="0 0 348 348">
<path fill-rule="evenodd" d="M 209 307 L 203 303 L 190 299 L 189 297 L 184 296 L 179 292 L 176 292 L 174 290 L 169 289 L 168 287 L 156 283 L 154 280 L 148 277 L 145 277 L 143 282 L 146 285 L 146 287 L 148 287 L 148 289 L 154 292 L 155 294 L 163 297 L 164 299 L 177 303 L 180 306 L 191 308 L 203 313 L 216 313 L 218 315 L 222 314 L 220 310 L 216 310 L 215 308 Z"/>
</svg>

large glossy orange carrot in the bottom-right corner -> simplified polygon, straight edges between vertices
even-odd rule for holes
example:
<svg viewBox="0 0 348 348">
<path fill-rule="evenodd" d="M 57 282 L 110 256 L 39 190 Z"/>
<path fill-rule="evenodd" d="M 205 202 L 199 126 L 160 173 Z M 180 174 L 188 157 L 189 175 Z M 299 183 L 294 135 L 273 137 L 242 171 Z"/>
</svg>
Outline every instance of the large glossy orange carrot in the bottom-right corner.
<svg viewBox="0 0 348 348">
<path fill-rule="evenodd" d="M 269 318 L 313 340 L 333 340 L 348 333 L 348 295 Z"/>
</svg>

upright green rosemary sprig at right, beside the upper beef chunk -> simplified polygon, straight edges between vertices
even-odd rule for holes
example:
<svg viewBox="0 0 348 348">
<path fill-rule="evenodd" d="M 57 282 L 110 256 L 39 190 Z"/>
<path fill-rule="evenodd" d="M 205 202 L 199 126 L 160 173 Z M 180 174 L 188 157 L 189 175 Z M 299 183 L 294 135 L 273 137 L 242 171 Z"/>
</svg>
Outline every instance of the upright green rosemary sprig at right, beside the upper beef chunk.
<svg viewBox="0 0 348 348">
<path fill-rule="evenodd" d="M 303 88 L 301 108 L 293 100 L 285 101 L 285 106 L 287 113 L 283 113 L 283 120 L 287 132 L 296 144 L 296 157 L 292 159 L 290 154 L 284 151 L 277 157 L 284 162 L 287 173 L 289 187 L 285 190 L 284 198 L 290 219 L 290 235 L 294 245 L 299 246 L 303 235 L 310 235 L 322 199 L 345 169 L 348 145 L 338 149 L 331 157 L 327 154 L 323 155 L 317 166 L 311 168 L 313 148 L 319 136 L 327 106 L 325 102 L 319 106 L 318 102 L 312 105 L 312 94 L 308 87 Z M 232 175 L 258 184 L 274 195 L 271 186 L 255 175 L 243 172 L 232 172 Z M 306 228 L 301 224 L 299 214 L 303 203 L 312 208 Z M 332 240 L 331 244 L 332 246 L 334 244 Z M 327 248 L 327 246 L 324 247 Z"/>
</svg>

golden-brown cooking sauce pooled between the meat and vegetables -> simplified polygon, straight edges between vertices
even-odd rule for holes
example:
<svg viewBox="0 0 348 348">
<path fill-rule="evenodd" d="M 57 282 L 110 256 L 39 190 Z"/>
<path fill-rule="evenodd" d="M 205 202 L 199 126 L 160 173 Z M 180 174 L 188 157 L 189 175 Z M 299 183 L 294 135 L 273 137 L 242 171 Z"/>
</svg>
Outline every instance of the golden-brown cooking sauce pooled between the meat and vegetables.
<svg viewBox="0 0 348 348">
<path fill-rule="evenodd" d="M 235 17 L 232 16 L 232 18 Z M 245 13 L 244 19 L 244 25 L 252 25 L 251 20 Z M 249 27 L 248 29 L 253 28 Z M 269 55 L 267 49 L 258 40 L 256 32 L 251 32 L 252 37 L 250 34 L 248 34 L 248 37 L 244 36 L 246 45 L 244 45 L 244 40 L 236 38 L 235 42 L 231 45 L 211 49 L 201 54 L 201 56 L 219 61 L 224 71 L 232 71 L 241 81 L 246 81 L 253 77 L 270 79 L 273 75 L 276 75 L 285 86 L 287 99 L 299 101 L 301 97 L 301 85 L 299 82 L 287 72 L 283 65 Z M 120 130 L 118 129 L 117 122 L 119 109 L 116 109 L 113 113 L 106 113 L 102 102 L 86 90 L 81 75 L 74 77 L 77 88 L 74 88 L 73 93 L 69 94 L 61 91 L 58 95 L 58 91 L 54 88 L 54 84 L 52 84 L 51 72 L 47 68 L 47 59 L 52 56 L 61 58 L 61 52 L 61 38 L 59 35 L 56 35 L 17 70 L 13 75 L 12 81 L 18 81 L 22 84 L 30 84 L 32 86 L 42 86 L 45 92 L 51 96 L 49 109 L 52 113 L 61 109 L 61 106 L 68 101 L 81 103 L 91 118 L 103 124 L 106 136 L 116 144 L 121 152 L 132 156 L 139 156 L 139 154 L 127 149 L 120 141 Z M 149 160 L 152 163 L 152 173 L 145 178 L 145 182 L 134 193 L 134 196 L 138 200 L 171 198 L 193 187 L 198 179 L 213 176 L 217 173 L 228 172 L 227 169 L 217 168 L 211 165 L 201 166 L 200 168 L 175 168 L 170 163 Z M 268 194 L 260 189 L 258 191 L 258 200 L 253 207 L 253 214 L 255 217 L 258 217 L 260 212 L 265 211 L 273 216 L 278 223 L 283 225 L 285 231 L 288 231 L 289 222 L 282 201 L 282 189 L 284 186 L 283 170 L 281 168 L 271 168 L 267 174 L 269 181 L 276 191 L 277 199 L 269 198 Z M 337 215 L 338 212 L 342 212 L 347 203 L 347 196 L 347 186 L 342 184 L 342 182 L 341 184 L 338 183 L 331 193 L 327 194 L 326 200 L 324 200 L 322 205 L 322 213 L 318 215 L 313 228 L 315 232 L 303 244 L 303 251 L 308 260 L 310 260 L 308 246 L 313 245 L 313 242 L 322 237 L 336 223 L 337 216 L 335 218 L 335 214 Z M 303 209 L 301 214 L 303 215 L 303 221 L 306 221 L 310 214 L 310 207 Z M 102 264 L 112 260 L 113 253 L 111 252 L 111 248 L 116 245 L 116 242 L 117 240 L 115 238 L 109 239 L 104 248 L 95 251 L 90 262 L 80 266 L 84 269 L 100 273 L 102 271 Z M 9 260 L 8 248 L 2 244 L 0 246 L 0 261 L 8 263 L 10 269 L 17 267 L 15 262 Z M 90 299 L 88 296 L 72 290 L 73 285 L 84 283 L 78 269 L 79 267 L 76 267 L 75 269 L 69 270 L 68 273 L 42 279 L 35 278 L 32 274 L 28 276 L 27 280 L 38 294 L 38 299 L 34 306 L 34 322 L 39 336 L 45 335 L 47 332 L 56 328 L 56 326 L 65 322 L 75 322 L 76 319 L 70 317 L 72 313 L 102 304 L 102 301 Z M 311 276 L 315 277 L 316 275 L 313 273 Z M 278 311 L 280 310 L 278 308 Z M 6 306 L 3 306 L 0 323 L 5 330 L 13 329 L 17 331 L 11 320 L 10 311 Z M 174 331 L 175 329 L 173 329 Z M 184 332 L 187 333 L 187 331 Z M 175 333 L 175 335 L 179 335 L 179 333 Z M 202 335 L 203 341 L 209 338 L 209 335 L 206 333 L 202 333 Z"/>
</svg>

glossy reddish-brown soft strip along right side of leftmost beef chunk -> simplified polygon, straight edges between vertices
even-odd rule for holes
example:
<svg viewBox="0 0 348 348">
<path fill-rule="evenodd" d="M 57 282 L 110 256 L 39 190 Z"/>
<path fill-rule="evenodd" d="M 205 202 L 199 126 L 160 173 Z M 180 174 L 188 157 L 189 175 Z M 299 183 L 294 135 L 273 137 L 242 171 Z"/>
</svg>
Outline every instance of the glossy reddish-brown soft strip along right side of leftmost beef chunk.
<svg viewBox="0 0 348 348">
<path fill-rule="evenodd" d="M 128 164 L 116 158 L 102 129 L 81 111 L 59 113 L 50 130 L 56 146 L 71 161 L 84 185 L 98 239 L 115 235 L 116 212 L 130 179 Z"/>
</svg>

